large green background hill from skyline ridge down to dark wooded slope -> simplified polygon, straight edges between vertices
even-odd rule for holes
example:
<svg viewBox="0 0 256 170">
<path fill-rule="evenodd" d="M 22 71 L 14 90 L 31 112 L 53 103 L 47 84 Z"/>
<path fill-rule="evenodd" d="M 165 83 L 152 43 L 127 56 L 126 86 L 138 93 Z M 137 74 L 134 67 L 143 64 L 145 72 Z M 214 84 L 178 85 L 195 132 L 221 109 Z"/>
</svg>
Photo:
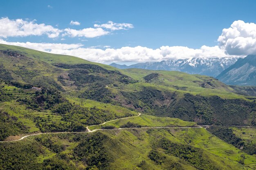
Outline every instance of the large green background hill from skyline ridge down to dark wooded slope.
<svg viewBox="0 0 256 170">
<path fill-rule="evenodd" d="M 0 45 L 0 56 L 1 73 L 8 72 L 12 77 L 8 81 L 19 88 L 49 88 L 68 93 L 71 98 L 198 124 L 255 125 L 256 122 L 255 99 L 236 94 L 238 90 L 213 77 L 177 71 L 119 70 L 76 57 L 9 45 Z"/>
</svg>

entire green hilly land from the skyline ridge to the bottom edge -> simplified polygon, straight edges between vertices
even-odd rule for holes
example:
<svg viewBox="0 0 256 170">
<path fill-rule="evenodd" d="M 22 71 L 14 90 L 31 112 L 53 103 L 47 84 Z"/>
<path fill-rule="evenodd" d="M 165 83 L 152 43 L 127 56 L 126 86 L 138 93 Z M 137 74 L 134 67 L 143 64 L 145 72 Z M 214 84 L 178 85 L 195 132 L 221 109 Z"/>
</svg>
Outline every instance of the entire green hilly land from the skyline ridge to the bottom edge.
<svg viewBox="0 0 256 170">
<path fill-rule="evenodd" d="M 0 44 L 0 170 L 255 169 L 253 150 L 222 138 L 248 147 L 246 130 L 198 126 L 255 126 L 256 98 L 239 89 Z"/>
</svg>

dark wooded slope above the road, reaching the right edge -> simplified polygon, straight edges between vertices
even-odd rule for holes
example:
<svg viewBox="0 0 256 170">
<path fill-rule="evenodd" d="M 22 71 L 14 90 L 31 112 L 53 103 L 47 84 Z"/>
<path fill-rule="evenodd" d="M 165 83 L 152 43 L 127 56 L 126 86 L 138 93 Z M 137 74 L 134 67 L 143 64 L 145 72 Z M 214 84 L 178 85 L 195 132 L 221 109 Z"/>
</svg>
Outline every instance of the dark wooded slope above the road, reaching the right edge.
<svg viewBox="0 0 256 170">
<path fill-rule="evenodd" d="M 160 117 L 175 117 L 202 125 L 256 125 L 256 103 L 218 96 L 177 95 L 144 87 L 141 91 L 122 91 L 126 105 Z M 245 122 L 248 122 L 247 124 Z"/>
</svg>

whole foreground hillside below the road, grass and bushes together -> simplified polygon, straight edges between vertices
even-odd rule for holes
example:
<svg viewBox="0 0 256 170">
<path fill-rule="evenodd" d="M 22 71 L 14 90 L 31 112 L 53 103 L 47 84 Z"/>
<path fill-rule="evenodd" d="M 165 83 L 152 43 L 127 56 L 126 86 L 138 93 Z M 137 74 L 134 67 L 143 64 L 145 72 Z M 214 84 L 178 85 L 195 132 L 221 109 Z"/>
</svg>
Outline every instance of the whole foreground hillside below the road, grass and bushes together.
<svg viewBox="0 0 256 170">
<path fill-rule="evenodd" d="M 0 149 L 4 150 L 0 169 L 14 170 L 31 166 L 35 170 L 252 170 L 256 166 L 254 156 L 240 152 L 204 128 L 38 135 L 2 143 Z"/>
</svg>

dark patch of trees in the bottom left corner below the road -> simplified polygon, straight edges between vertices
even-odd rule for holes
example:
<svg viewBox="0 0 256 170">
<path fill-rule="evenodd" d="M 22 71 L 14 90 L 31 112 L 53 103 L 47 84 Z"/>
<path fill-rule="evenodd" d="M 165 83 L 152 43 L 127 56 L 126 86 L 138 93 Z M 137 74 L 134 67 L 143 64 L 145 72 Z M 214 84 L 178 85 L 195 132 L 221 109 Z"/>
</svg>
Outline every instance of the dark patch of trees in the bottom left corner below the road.
<svg viewBox="0 0 256 170">
<path fill-rule="evenodd" d="M 52 140 L 52 139 L 51 139 Z M 61 159 L 61 154 L 38 160 L 39 156 L 45 156 L 45 148 L 41 141 L 19 141 L 16 143 L 0 144 L 0 170 L 78 170 L 72 161 Z M 54 147 L 52 147 L 55 150 Z M 50 149 L 50 150 L 52 150 Z M 80 169 L 79 169 L 80 170 Z"/>
</svg>

